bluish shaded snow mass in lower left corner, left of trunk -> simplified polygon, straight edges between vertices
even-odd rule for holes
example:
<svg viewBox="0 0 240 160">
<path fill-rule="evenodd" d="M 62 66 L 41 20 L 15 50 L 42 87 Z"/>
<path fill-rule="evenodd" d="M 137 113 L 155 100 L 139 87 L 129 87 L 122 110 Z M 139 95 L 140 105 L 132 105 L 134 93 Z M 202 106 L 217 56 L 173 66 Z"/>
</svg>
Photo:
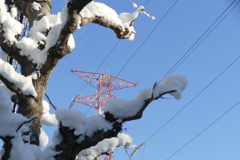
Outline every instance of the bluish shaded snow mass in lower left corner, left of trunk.
<svg viewBox="0 0 240 160">
<path fill-rule="evenodd" d="M 21 129 L 19 127 L 23 122 L 28 121 L 26 117 L 21 114 L 12 113 L 12 104 L 9 94 L 0 89 L 0 136 L 12 136 L 11 152 L 9 160 L 39 160 L 41 157 L 41 150 L 36 145 L 24 144 L 22 133 L 28 131 L 27 124 L 24 124 Z"/>
</svg>

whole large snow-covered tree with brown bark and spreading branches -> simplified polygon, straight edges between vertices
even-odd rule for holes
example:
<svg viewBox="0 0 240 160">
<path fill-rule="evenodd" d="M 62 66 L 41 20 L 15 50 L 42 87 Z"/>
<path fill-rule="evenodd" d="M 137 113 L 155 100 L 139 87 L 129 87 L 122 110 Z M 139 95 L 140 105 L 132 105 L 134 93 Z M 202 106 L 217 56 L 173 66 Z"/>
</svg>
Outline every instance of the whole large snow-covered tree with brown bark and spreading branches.
<svg viewBox="0 0 240 160">
<path fill-rule="evenodd" d="M 51 0 L 0 0 L 2 160 L 90 160 L 119 146 L 128 148 L 132 139 L 121 133 L 124 122 L 140 119 L 147 106 L 165 94 L 181 98 L 187 80 L 176 75 L 141 90 L 133 100 L 108 100 L 104 116 L 86 117 L 58 107 L 55 114 L 49 113 L 43 101 L 48 79 L 59 60 L 74 49 L 76 29 L 97 23 L 120 39 L 133 40 L 134 20 L 139 14 L 149 16 L 143 6 L 135 8 L 133 13 L 117 14 L 100 2 L 66 0 L 62 12 L 51 14 Z M 9 59 L 19 63 L 20 71 Z M 14 111 L 12 103 L 17 105 Z M 53 144 L 43 152 L 39 146 L 46 146 L 48 137 L 42 124 L 58 126 Z"/>
</svg>

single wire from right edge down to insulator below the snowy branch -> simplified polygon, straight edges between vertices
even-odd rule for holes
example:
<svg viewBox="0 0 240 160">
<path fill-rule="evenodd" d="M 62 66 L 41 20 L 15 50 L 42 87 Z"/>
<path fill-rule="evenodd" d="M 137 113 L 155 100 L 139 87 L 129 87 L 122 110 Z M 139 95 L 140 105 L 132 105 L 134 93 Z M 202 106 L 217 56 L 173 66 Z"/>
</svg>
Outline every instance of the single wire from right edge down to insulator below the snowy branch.
<svg viewBox="0 0 240 160">
<path fill-rule="evenodd" d="M 190 103 L 192 103 L 200 94 L 202 94 L 209 86 L 211 86 L 220 76 L 222 76 L 234 63 L 240 59 L 237 57 L 230 65 L 228 65 L 220 74 L 218 74 L 208 85 L 206 85 L 196 96 L 194 96 L 183 108 L 181 108 L 176 114 L 174 114 L 166 123 L 164 123 L 158 130 L 156 130 L 148 139 L 149 141 L 160 130 L 162 130 L 169 122 L 171 122 L 178 114 L 180 114 Z"/>
</svg>

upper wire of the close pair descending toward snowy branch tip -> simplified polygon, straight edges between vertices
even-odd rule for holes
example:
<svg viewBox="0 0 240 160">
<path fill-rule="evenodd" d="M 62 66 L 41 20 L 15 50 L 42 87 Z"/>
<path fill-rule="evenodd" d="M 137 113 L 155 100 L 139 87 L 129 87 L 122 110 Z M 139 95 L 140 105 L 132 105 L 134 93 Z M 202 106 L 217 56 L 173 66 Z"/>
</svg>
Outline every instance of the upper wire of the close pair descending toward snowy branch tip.
<svg viewBox="0 0 240 160">
<path fill-rule="evenodd" d="M 167 76 L 174 67 L 187 55 L 187 53 L 201 40 L 201 38 L 213 27 L 213 25 L 227 12 L 227 10 L 234 4 L 236 0 L 233 0 L 231 4 L 218 16 L 218 18 L 208 27 L 208 29 L 197 39 L 197 41 L 194 42 L 194 44 L 183 54 L 183 56 L 170 68 L 170 70 L 165 74 Z M 164 76 L 164 77 L 165 77 Z"/>
</svg>

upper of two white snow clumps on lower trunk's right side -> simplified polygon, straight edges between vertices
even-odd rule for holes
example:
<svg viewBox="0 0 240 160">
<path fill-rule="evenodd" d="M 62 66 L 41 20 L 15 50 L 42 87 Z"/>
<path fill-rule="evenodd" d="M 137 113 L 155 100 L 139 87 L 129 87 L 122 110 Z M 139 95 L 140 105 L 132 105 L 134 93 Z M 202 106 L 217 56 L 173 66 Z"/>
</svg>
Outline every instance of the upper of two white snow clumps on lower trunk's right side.
<svg viewBox="0 0 240 160">
<path fill-rule="evenodd" d="M 50 107 L 47 101 L 43 100 L 42 105 L 43 105 L 42 123 L 45 124 L 46 126 L 57 126 L 58 120 L 55 114 L 49 113 Z"/>
</svg>

